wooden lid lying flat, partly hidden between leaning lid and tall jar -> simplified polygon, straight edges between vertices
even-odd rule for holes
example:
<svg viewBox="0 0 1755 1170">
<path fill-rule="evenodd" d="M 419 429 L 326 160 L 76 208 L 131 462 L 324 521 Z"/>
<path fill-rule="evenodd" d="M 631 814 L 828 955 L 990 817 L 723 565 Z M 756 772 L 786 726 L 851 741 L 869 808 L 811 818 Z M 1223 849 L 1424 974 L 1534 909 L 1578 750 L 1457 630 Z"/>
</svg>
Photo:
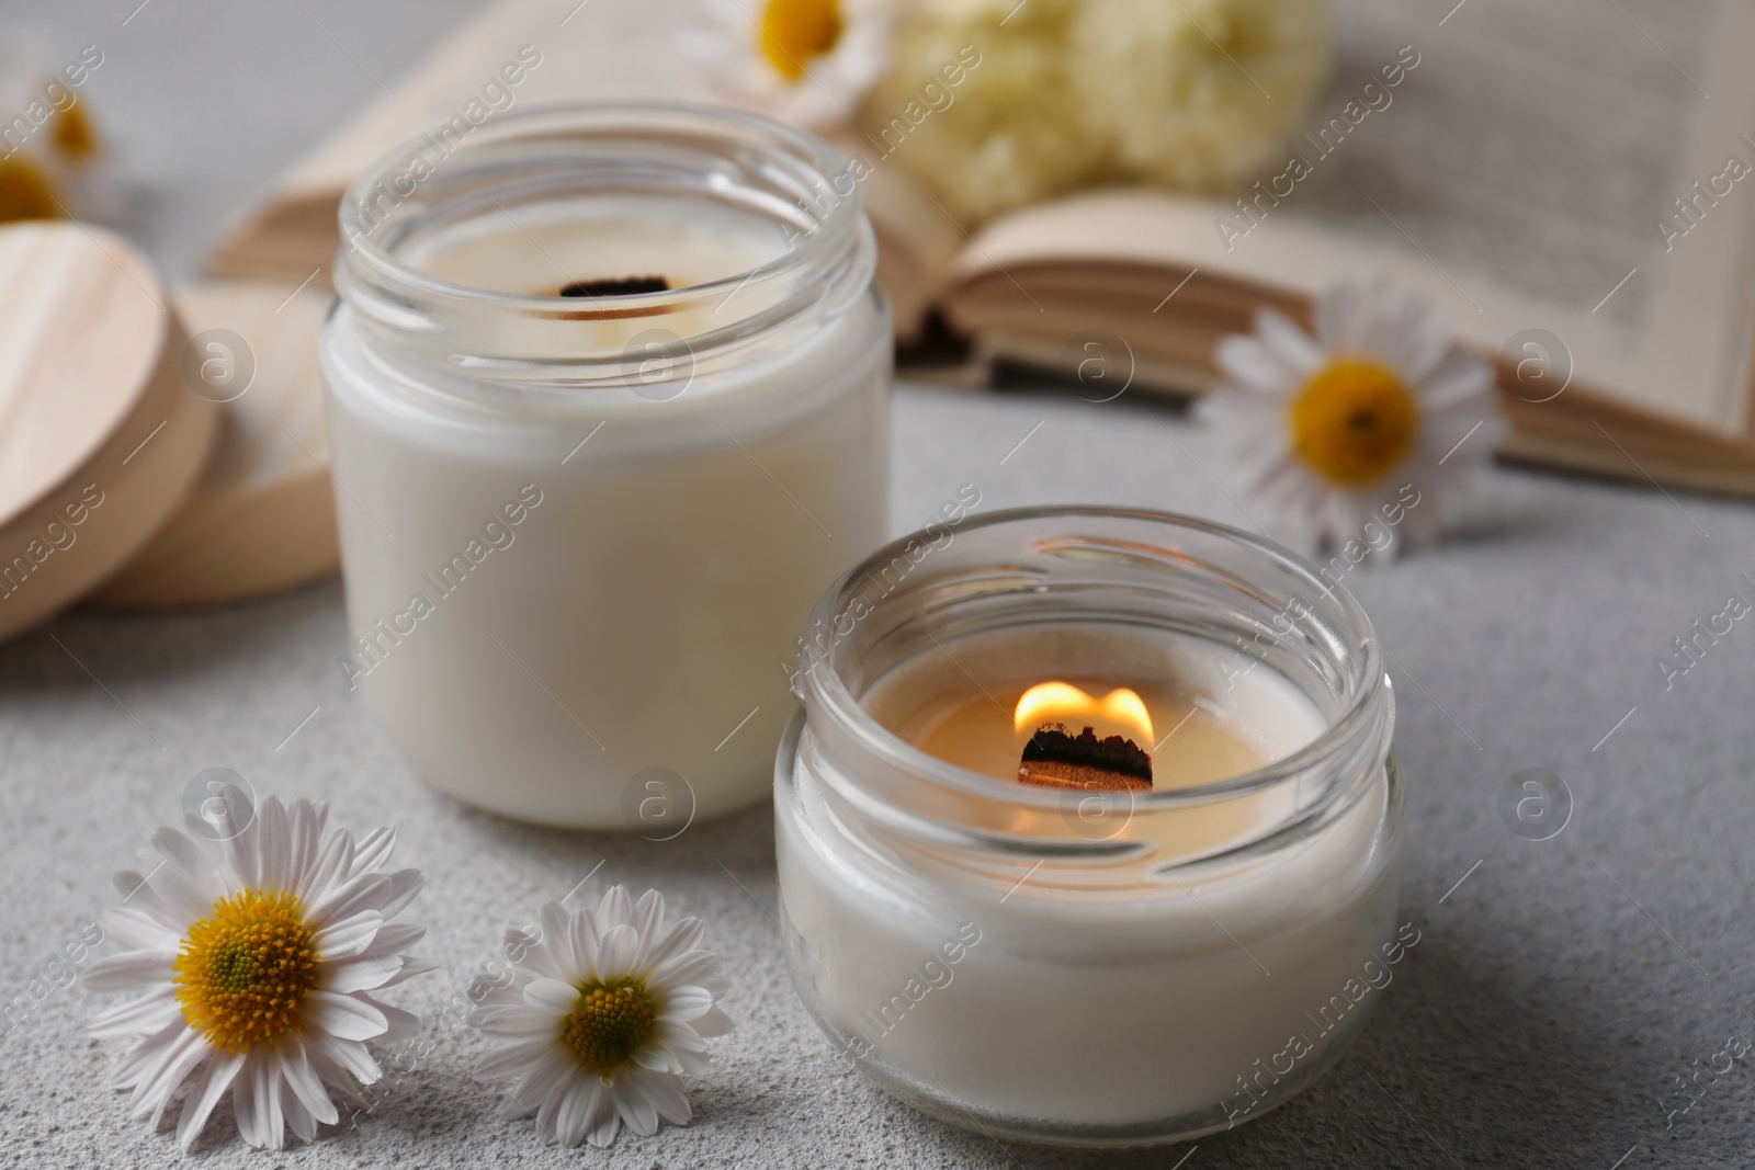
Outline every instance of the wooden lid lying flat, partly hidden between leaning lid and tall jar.
<svg viewBox="0 0 1755 1170">
<path fill-rule="evenodd" d="M 218 281 L 177 293 L 188 375 L 221 402 L 200 481 L 140 553 L 86 598 L 112 609 L 211 605 L 335 572 L 335 500 L 318 330 L 330 295 Z"/>
</svg>

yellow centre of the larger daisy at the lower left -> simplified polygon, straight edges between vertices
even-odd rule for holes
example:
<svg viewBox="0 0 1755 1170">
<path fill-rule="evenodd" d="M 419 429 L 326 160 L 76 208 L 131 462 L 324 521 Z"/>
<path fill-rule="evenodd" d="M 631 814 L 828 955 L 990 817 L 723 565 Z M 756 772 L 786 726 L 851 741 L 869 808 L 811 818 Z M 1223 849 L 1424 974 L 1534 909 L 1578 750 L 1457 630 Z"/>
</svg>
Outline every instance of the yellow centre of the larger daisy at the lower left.
<svg viewBox="0 0 1755 1170">
<path fill-rule="evenodd" d="M 247 1052 L 304 1030 L 314 931 L 295 895 L 246 889 L 190 926 L 172 970 L 183 1019 L 216 1049 Z"/>
</svg>

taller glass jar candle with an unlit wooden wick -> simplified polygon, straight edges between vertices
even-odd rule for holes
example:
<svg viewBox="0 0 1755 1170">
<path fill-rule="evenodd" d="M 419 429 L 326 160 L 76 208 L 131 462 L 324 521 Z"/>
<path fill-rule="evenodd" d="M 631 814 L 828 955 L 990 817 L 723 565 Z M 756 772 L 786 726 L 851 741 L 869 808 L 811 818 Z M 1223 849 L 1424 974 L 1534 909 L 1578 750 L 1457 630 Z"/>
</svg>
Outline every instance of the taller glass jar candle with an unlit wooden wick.
<svg viewBox="0 0 1755 1170">
<path fill-rule="evenodd" d="M 437 788 L 669 835 L 767 791 L 799 626 L 885 537 L 870 226 L 823 142 L 734 112 L 453 139 L 340 209 L 339 665 Z"/>
</svg>

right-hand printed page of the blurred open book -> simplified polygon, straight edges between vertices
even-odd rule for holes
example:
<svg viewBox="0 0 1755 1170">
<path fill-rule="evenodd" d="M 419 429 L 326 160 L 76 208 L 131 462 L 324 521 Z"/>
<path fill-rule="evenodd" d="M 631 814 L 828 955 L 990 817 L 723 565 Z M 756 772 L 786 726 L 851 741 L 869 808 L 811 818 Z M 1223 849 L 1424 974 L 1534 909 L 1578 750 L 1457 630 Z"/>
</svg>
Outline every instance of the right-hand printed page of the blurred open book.
<svg viewBox="0 0 1755 1170">
<path fill-rule="evenodd" d="M 1339 0 L 1337 16 L 1334 77 L 1286 165 L 1232 196 L 1111 191 L 1014 212 L 953 279 L 1049 258 L 1309 295 L 1385 275 L 1488 353 L 1548 330 L 1578 384 L 1741 435 L 1755 5 Z"/>
</svg>

